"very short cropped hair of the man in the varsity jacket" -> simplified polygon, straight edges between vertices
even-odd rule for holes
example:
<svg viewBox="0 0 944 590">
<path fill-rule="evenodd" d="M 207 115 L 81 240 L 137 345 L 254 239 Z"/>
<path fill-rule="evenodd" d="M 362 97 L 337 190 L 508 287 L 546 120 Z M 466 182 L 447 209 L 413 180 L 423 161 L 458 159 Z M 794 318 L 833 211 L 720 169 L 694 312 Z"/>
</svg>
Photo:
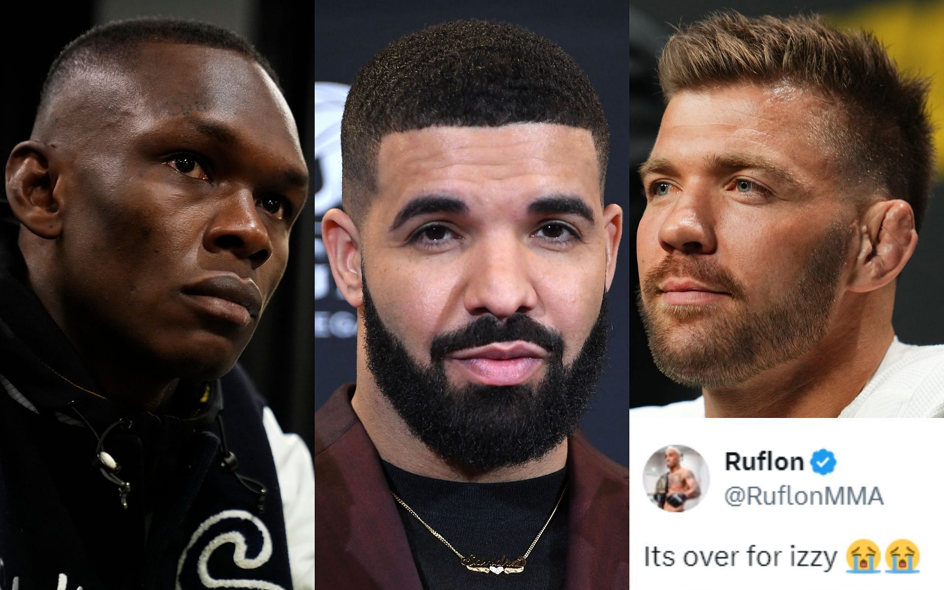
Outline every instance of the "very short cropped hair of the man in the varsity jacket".
<svg viewBox="0 0 944 590">
<path fill-rule="evenodd" d="M 278 76 L 268 60 L 240 35 L 208 23 L 144 17 L 93 26 L 66 45 L 49 67 L 42 83 L 38 113 L 48 108 L 71 76 L 102 62 L 133 61 L 145 42 L 182 43 L 235 51 L 258 63 L 281 92 Z"/>
</svg>

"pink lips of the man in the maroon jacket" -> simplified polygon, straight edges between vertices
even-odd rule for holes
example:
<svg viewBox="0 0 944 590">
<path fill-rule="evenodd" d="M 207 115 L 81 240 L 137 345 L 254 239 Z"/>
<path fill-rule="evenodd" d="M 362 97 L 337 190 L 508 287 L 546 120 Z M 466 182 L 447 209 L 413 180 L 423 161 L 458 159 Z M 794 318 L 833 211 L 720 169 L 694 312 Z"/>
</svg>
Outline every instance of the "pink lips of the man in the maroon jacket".
<svg viewBox="0 0 944 590">
<path fill-rule="evenodd" d="M 547 358 L 547 350 L 521 340 L 463 348 L 446 357 L 471 379 L 485 385 L 523 383 L 531 379 Z"/>
</svg>

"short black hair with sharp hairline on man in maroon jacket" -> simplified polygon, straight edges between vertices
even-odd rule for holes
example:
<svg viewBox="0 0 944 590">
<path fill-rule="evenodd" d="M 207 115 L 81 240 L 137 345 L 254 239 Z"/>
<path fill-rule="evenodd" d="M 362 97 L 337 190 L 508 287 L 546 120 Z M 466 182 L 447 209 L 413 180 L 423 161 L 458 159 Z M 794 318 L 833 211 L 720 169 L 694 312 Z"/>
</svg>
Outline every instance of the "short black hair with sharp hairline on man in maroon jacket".
<svg viewBox="0 0 944 590">
<path fill-rule="evenodd" d="M 590 130 L 600 194 L 610 132 L 577 62 L 518 25 L 463 20 L 398 39 L 368 61 L 347 94 L 341 124 L 343 198 L 360 223 L 377 190 L 379 144 L 429 126 L 555 123 Z"/>
</svg>

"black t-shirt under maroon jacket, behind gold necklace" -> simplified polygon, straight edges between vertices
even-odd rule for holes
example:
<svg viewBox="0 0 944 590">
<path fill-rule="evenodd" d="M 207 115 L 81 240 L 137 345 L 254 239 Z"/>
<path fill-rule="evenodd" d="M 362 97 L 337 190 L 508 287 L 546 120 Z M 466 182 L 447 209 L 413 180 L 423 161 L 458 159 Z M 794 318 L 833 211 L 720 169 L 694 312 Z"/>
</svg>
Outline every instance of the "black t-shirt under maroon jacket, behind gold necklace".
<svg viewBox="0 0 944 590">
<path fill-rule="evenodd" d="M 383 462 L 391 488 L 464 556 L 523 555 L 560 497 L 566 468 L 531 480 L 466 483 L 434 480 Z M 569 494 L 568 494 L 569 495 Z M 564 587 L 567 495 L 520 573 L 469 571 L 459 557 L 397 504 L 420 581 L 427 590 L 548 590 Z"/>
</svg>

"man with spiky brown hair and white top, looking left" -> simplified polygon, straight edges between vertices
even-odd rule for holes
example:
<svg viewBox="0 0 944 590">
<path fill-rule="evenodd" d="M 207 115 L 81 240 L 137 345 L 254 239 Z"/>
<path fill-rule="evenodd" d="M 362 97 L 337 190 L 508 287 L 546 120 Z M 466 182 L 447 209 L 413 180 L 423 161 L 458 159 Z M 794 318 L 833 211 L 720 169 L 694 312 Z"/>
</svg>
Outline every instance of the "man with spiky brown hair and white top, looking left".
<svg viewBox="0 0 944 590">
<path fill-rule="evenodd" d="M 640 310 L 703 396 L 634 416 L 942 416 L 944 346 L 892 329 L 932 175 L 927 82 L 866 33 L 720 12 L 669 39 L 640 168 Z"/>
</svg>

